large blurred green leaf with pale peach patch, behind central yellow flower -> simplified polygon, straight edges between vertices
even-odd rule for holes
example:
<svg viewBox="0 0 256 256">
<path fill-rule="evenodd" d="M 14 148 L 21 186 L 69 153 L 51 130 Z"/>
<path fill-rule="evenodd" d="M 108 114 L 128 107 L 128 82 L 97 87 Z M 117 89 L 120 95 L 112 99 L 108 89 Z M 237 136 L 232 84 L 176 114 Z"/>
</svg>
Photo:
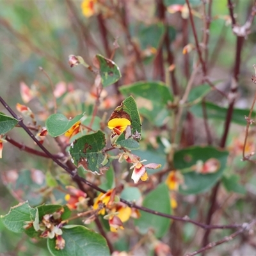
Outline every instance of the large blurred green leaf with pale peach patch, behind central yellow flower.
<svg viewBox="0 0 256 256">
<path fill-rule="evenodd" d="M 168 102 L 173 97 L 170 90 L 162 82 L 145 82 L 120 86 L 120 92 L 127 95 L 134 95 L 140 114 L 145 116 L 152 124 L 161 126 L 170 115 L 167 110 Z"/>
</svg>

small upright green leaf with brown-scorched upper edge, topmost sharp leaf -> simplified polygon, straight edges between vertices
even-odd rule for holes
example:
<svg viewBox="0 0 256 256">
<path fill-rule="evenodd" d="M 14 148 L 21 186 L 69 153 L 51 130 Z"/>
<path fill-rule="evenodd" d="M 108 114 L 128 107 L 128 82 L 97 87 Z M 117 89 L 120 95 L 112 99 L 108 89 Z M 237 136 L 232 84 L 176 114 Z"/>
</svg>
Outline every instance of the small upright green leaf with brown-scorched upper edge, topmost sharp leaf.
<svg viewBox="0 0 256 256">
<path fill-rule="evenodd" d="M 122 77 L 120 69 L 114 61 L 104 58 L 100 54 L 97 54 L 96 58 L 100 65 L 100 77 L 103 87 L 115 83 Z"/>
</svg>

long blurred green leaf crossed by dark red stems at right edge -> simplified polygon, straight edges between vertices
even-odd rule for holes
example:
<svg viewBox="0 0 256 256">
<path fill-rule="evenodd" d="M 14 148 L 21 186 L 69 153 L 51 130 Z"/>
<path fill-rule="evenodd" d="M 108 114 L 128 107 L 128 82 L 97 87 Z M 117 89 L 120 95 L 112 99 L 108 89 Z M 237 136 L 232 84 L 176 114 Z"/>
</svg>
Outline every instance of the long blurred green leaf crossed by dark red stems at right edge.
<svg viewBox="0 0 256 256">
<path fill-rule="evenodd" d="M 222 108 L 213 104 L 212 102 L 205 102 L 205 108 L 207 111 L 207 117 L 216 119 L 216 120 L 226 120 L 227 118 L 227 108 Z M 200 118 L 204 118 L 203 111 L 202 111 L 202 104 L 197 104 L 190 108 L 190 111 Z M 246 125 L 246 120 L 244 116 L 249 115 L 249 109 L 237 109 L 235 108 L 232 114 L 232 122 L 239 124 L 239 125 Z M 252 112 L 252 118 L 255 118 L 256 113 L 255 111 Z"/>
</svg>

